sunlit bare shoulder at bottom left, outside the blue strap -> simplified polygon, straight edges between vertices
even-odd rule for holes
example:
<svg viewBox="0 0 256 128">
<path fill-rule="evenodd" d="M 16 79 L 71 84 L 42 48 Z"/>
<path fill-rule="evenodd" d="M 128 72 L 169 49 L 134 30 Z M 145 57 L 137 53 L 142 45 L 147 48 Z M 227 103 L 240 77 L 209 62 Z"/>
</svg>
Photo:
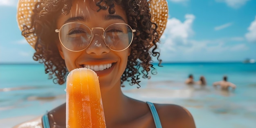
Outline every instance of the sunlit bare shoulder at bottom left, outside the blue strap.
<svg viewBox="0 0 256 128">
<path fill-rule="evenodd" d="M 18 124 L 16 126 L 14 126 L 13 128 L 43 128 L 42 116 L 36 117 L 29 121 Z"/>
</svg>

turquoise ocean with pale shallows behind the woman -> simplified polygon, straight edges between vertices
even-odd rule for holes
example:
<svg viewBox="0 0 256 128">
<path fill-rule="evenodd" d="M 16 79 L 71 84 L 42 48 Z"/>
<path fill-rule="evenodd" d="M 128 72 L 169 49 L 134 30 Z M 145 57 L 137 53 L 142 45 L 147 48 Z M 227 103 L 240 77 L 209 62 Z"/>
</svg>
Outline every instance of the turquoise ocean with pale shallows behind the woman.
<svg viewBox="0 0 256 128">
<path fill-rule="evenodd" d="M 173 103 L 187 108 L 197 128 L 255 128 L 256 63 L 163 63 L 157 72 L 137 85 L 122 88 L 134 99 Z M 207 85 L 185 85 L 189 74 Z M 220 91 L 212 83 L 228 76 L 235 90 Z M 65 84 L 56 85 L 44 73 L 42 64 L 0 64 L 0 128 L 6 119 L 42 115 L 65 102 Z M 2 121 L 1 121 L 2 120 Z M 14 121 L 15 123 L 18 121 Z"/>
</svg>

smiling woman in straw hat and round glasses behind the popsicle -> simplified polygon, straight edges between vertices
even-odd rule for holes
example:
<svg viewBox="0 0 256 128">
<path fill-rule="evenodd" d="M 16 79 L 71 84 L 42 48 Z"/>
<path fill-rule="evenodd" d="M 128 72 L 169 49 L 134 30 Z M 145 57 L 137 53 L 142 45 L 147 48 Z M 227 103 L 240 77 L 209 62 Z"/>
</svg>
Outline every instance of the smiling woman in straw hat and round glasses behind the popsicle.
<svg viewBox="0 0 256 128">
<path fill-rule="evenodd" d="M 165 0 L 20 0 L 18 5 L 22 35 L 54 83 L 65 83 L 67 73 L 79 67 L 97 73 L 107 128 L 195 128 L 185 108 L 137 101 L 120 88 L 124 81 L 139 87 L 141 77 L 149 78 L 150 55 L 161 62 L 156 49 L 168 17 Z M 15 126 L 34 127 L 65 128 L 65 104 Z"/>
</svg>

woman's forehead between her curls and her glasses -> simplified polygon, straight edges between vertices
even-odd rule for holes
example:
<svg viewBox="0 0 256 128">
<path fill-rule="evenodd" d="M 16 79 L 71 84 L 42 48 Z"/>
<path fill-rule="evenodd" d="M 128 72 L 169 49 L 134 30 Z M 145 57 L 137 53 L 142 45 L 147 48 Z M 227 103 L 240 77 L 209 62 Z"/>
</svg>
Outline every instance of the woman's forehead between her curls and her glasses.
<svg viewBox="0 0 256 128">
<path fill-rule="evenodd" d="M 114 3 L 115 13 L 110 14 L 108 11 L 109 9 L 108 5 L 105 2 L 101 2 L 97 4 L 98 1 L 101 1 L 101 0 L 72 0 L 72 7 L 70 9 L 70 13 L 68 13 L 67 15 L 61 14 L 61 16 L 59 16 L 57 20 L 58 24 L 63 25 L 67 22 L 70 22 L 68 19 L 70 18 L 72 19 L 76 17 L 82 17 L 79 19 L 82 22 L 97 23 L 97 21 L 101 21 L 102 23 L 102 20 L 111 20 L 111 18 L 106 18 L 106 17 L 109 17 L 110 15 L 122 18 L 124 20 L 123 22 L 127 22 L 125 10 L 122 9 L 120 5 L 117 5 Z M 107 9 L 99 10 L 99 6 L 101 7 L 106 6 Z M 118 20 L 118 18 L 114 18 L 114 19 Z"/>
</svg>

